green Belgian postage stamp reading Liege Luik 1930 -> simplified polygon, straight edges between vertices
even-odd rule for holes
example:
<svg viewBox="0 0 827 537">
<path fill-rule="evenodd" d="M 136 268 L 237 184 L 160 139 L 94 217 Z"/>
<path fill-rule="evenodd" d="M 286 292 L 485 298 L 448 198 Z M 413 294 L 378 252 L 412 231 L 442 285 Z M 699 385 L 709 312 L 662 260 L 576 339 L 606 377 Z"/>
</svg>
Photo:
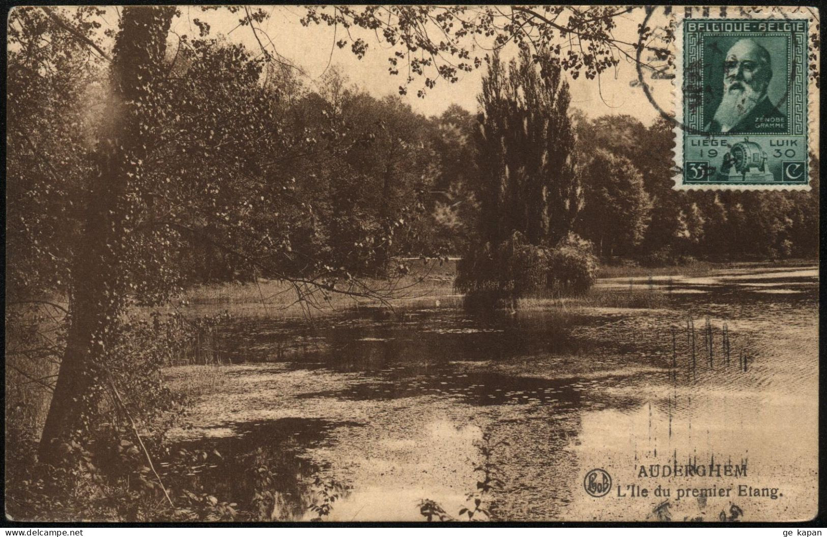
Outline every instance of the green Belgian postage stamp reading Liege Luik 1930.
<svg viewBox="0 0 827 537">
<path fill-rule="evenodd" d="M 676 188 L 809 189 L 810 24 L 678 21 Z"/>
</svg>

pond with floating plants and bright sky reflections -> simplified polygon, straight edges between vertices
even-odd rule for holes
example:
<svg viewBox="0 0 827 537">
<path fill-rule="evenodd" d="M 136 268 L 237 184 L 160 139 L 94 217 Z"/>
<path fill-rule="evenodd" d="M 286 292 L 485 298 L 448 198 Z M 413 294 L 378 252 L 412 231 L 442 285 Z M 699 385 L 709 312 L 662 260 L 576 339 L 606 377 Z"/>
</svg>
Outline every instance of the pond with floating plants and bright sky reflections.
<svg viewBox="0 0 827 537">
<path fill-rule="evenodd" d="M 315 516 L 317 478 L 342 486 L 324 520 L 424 520 L 424 499 L 457 517 L 483 434 L 497 520 L 803 520 L 818 501 L 818 285 L 815 266 L 742 267 L 596 286 L 660 293 L 658 309 L 419 300 L 390 318 L 236 319 L 232 363 L 167 371 L 211 379 L 172 436 L 221 453 L 197 479 L 227 501 L 269 468 L 276 520 Z M 586 491 L 595 468 L 605 496 Z"/>
</svg>

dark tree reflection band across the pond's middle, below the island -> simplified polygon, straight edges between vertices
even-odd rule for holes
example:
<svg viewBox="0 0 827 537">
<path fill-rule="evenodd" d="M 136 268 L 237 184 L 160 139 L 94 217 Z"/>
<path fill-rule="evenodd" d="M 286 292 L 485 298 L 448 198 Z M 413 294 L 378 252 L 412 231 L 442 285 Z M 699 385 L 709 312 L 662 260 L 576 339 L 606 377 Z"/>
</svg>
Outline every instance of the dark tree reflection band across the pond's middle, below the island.
<svg viewBox="0 0 827 537">
<path fill-rule="evenodd" d="M 222 339 L 228 360 L 323 362 L 337 371 L 377 371 L 388 364 L 422 367 L 446 361 L 504 360 L 536 352 L 586 352 L 588 342 L 572 338 L 571 326 L 586 316 L 549 314 L 468 317 L 452 309 L 409 312 L 407 320 L 375 320 L 349 312 L 345 319 L 308 323 L 241 319 Z M 564 321 L 564 322 L 561 322 Z M 321 362 L 320 362 L 321 361 Z"/>
</svg>

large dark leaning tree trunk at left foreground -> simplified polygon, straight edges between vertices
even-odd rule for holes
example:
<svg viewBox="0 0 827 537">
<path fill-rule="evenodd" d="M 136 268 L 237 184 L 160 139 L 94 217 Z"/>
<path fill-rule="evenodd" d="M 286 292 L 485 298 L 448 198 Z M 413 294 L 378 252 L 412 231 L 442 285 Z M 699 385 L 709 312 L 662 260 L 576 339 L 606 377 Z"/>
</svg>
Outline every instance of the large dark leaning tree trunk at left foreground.
<svg viewBox="0 0 827 537">
<path fill-rule="evenodd" d="M 112 57 L 112 95 L 90 181 L 84 233 L 74 249 L 69 329 L 55 392 L 41 434 L 40 458 L 60 460 L 59 441 L 84 434 L 99 390 L 112 327 L 124 306 L 130 201 L 127 185 L 142 173 L 146 133 L 160 113 L 156 83 L 162 74 L 171 7 L 123 10 Z"/>
</svg>

